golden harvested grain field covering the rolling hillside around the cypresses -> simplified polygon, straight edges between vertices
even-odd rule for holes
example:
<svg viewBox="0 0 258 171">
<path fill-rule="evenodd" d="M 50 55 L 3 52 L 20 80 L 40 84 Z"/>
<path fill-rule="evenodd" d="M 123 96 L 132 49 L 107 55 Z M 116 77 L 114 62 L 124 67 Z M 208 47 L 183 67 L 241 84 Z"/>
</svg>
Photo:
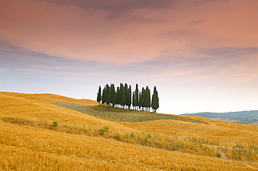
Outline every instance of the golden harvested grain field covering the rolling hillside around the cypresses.
<svg viewBox="0 0 258 171">
<path fill-rule="evenodd" d="M 112 122 L 56 102 L 98 105 L 0 92 L 0 170 L 258 170 L 255 125 L 194 116 L 182 117 L 208 124 Z"/>
</svg>

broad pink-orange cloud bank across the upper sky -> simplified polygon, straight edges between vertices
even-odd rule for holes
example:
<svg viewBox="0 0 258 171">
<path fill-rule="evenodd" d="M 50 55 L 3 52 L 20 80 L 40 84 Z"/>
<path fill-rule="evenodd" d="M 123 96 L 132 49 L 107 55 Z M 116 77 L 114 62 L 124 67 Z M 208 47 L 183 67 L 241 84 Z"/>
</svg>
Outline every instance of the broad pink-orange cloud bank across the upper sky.
<svg viewBox="0 0 258 171">
<path fill-rule="evenodd" d="M 107 63 L 160 56 L 203 58 L 196 49 L 258 47 L 256 7 L 256 0 L 57 4 L 10 0 L 0 7 L 0 38 L 52 56 Z M 120 18 L 107 19 L 112 13 Z"/>
</svg>

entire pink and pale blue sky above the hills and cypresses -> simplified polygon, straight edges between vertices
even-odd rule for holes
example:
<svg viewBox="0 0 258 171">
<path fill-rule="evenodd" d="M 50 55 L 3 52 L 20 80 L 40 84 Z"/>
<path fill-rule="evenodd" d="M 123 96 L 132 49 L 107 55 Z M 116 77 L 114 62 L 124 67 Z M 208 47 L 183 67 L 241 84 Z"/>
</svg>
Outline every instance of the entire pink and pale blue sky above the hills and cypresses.
<svg viewBox="0 0 258 171">
<path fill-rule="evenodd" d="M 0 0 L 0 91 L 96 100 L 156 86 L 158 113 L 258 110 L 257 0 Z"/>
</svg>

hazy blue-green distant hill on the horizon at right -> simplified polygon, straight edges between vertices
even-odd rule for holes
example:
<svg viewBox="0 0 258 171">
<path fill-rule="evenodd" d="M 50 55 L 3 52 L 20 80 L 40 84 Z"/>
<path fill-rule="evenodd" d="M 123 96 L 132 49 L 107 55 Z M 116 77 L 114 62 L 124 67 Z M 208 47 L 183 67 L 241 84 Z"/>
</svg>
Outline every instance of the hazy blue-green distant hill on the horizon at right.
<svg viewBox="0 0 258 171">
<path fill-rule="evenodd" d="M 185 113 L 181 115 L 192 115 L 222 120 L 236 120 L 241 122 L 258 122 L 258 111 L 240 111 L 228 113 Z"/>
</svg>

